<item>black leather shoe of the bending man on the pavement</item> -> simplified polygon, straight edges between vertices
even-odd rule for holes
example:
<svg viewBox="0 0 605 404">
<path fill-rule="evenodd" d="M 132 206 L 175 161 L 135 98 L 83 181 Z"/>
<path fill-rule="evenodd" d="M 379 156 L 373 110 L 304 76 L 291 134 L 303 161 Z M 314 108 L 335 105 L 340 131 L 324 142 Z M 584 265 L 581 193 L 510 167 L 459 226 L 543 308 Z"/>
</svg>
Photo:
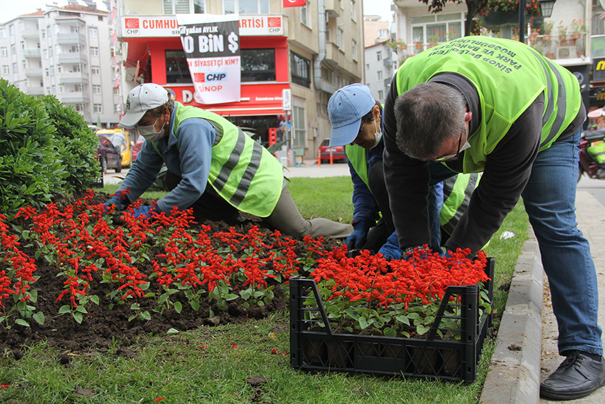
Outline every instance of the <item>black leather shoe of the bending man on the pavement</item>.
<svg viewBox="0 0 605 404">
<path fill-rule="evenodd" d="M 574 400 L 605 385 L 605 360 L 595 361 L 581 351 L 572 351 L 540 384 L 540 396 L 551 400 Z"/>
</svg>

